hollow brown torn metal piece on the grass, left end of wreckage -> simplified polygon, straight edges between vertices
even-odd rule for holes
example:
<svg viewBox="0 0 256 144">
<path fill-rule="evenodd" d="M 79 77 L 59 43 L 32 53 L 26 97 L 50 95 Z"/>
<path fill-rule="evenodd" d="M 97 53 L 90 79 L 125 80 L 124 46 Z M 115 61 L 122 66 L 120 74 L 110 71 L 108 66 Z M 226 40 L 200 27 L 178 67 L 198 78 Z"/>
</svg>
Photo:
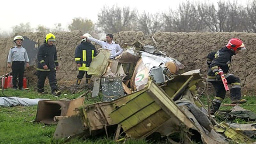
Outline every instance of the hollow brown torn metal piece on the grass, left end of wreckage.
<svg viewBox="0 0 256 144">
<path fill-rule="evenodd" d="M 56 124 L 54 116 L 72 116 L 76 114 L 75 108 L 84 104 L 84 97 L 74 100 L 42 100 L 38 102 L 35 122 Z"/>
</svg>

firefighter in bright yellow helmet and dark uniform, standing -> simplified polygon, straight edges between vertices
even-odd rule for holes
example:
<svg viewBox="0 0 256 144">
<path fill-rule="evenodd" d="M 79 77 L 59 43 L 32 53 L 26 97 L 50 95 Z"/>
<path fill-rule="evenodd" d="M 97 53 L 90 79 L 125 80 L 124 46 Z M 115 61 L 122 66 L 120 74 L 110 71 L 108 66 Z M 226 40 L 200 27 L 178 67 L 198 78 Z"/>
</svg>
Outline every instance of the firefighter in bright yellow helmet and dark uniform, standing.
<svg viewBox="0 0 256 144">
<path fill-rule="evenodd" d="M 52 94 L 55 96 L 60 95 L 60 91 L 57 88 L 57 80 L 56 80 L 56 70 L 59 69 L 59 63 L 57 60 L 57 51 L 56 47 L 53 44 L 55 42 L 55 36 L 52 33 L 49 33 L 45 36 L 45 42 L 39 47 L 37 53 L 37 74 L 38 74 L 38 82 L 37 82 L 37 92 L 44 92 L 44 82 L 46 76 L 49 79 L 49 83 L 52 89 Z"/>
</svg>

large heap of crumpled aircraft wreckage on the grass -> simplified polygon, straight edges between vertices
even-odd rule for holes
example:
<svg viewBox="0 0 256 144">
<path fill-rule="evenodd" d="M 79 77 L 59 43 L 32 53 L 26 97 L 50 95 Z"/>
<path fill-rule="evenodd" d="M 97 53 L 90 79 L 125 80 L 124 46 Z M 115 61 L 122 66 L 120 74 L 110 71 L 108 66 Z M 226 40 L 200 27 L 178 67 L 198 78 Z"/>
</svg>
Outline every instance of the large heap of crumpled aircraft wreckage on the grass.
<svg viewBox="0 0 256 144">
<path fill-rule="evenodd" d="M 73 104 L 38 103 L 36 121 L 57 123 L 54 138 L 105 134 L 123 141 L 160 133 L 171 143 L 253 142 L 208 114 L 197 91 L 204 87 L 199 69 L 183 73 L 184 65 L 178 60 L 139 41 L 127 45 L 115 59 L 109 59 L 109 50 L 99 50 L 88 74 L 94 81 L 92 97 L 101 90 L 103 102 L 82 105 L 80 98 Z"/>
</svg>

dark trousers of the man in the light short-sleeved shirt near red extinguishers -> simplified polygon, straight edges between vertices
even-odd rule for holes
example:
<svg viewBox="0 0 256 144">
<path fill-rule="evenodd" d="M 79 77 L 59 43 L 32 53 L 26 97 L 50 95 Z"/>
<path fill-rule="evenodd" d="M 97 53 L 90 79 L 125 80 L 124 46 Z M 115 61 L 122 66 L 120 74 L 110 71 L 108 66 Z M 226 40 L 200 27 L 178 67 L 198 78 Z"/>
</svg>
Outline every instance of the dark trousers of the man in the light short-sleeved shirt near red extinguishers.
<svg viewBox="0 0 256 144">
<path fill-rule="evenodd" d="M 23 87 L 23 76 L 24 76 L 24 61 L 13 61 L 12 62 L 12 84 L 13 88 L 17 88 L 17 78 L 19 77 L 19 88 Z"/>
</svg>

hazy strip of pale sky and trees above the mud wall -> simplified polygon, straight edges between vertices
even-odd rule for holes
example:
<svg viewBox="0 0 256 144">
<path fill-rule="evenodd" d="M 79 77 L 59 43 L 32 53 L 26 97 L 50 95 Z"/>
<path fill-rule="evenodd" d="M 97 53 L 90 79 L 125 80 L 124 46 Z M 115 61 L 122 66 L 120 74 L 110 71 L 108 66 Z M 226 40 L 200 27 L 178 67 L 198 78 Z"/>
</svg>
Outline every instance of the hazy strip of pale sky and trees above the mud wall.
<svg viewBox="0 0 256 144">
<path fill-rule="evenodd" d="M 255 0 L 1 1 L 0 36 L 20 31 L 255 32 Z"/>
</svg>

